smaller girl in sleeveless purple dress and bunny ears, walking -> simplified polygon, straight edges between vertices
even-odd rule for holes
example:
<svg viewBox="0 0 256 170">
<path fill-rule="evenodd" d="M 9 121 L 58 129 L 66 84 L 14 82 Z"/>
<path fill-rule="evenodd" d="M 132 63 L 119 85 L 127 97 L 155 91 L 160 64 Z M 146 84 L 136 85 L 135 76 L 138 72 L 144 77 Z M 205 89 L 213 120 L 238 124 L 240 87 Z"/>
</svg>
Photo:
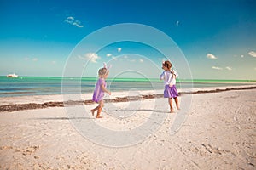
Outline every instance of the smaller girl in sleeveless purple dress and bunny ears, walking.
<svg viewBox="0 0 256 170">
<path fill-rule="evenodd" d="M 96 118 L 102 118 L 101 112 L 102 112 L 102 108 L 104 106 L 104 101 L 103 101 L 104 92 L 111 95 L 111 92 L 108 91 L 108 89 L 106 88 L 107 84 L 105 82 L 105 79 L 108 77 L 108 73 L 109 73 L 109 70 L 106 68 L 106 65 L 104 68 L 102 68 L 98 71 L 99 79 L 96 83 L 96 87 L 95 87 L 95 90 L 93 93 L 92 100 L 95 101 L 99 105 L 96 106 L 96 108 L 90 110 L 92 116 L 94 116 L 94 112 L 97 111 Z"/>
</svg>

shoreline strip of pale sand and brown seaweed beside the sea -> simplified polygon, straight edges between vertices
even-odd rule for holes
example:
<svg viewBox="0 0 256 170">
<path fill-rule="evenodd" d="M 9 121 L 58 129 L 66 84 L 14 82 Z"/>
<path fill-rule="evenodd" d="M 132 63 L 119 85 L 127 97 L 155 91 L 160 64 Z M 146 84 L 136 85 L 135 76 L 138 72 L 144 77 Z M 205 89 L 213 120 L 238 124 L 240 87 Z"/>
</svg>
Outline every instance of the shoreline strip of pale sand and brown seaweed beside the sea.
<svg viewBox="0 0 256 170">
<path fill-rule="evenodd" d="M 209 94 L 209 93 L 220 93 L 224 91 L 230 91 L 230 90 L 248 90 L 248 89 L 254 89 L 256 86 L 254 85 L 247 85 L 247 86 L 230 86 L 230 87 L 216 87 L 216 88 L 195 88 L 194 90 L 179 90 L 180 92 L 178 93 L 179 96 L 186 95 L 186 94 Z M 111 99 L 104 99 L 105 103 L 119 103 L 119 102 L 129 102 L 129 101 L 137 101 L 137 100 L 143 100 L 143 99 L 158 99 L 158 98 L 163 98 L 163 94 L 160 93 L 159 90 L 156 93 L 152 91 L 140 91 L 141 93 L 139 95 L 125 95 L 124 92 L 115 92 L 113 93 L 113 98 Z M 52 99 L 52 96 L 57 97 L 58 99 Z M 44 98 L 42 96 L 22 96 L 22 97 L 5 97 L 5 98 L 0 98 L 0 101 L 3 99 L 11 99 L 14 101 L 15 99 L 21 99 L 20 102 L 17 104 L 9 104 L 9 105 L 0 105 L 0 113 L 1 112 L 12 112 L 12 111 L 24 111 L 24 110 L 35 110 L 35 109 L 44 109 L 44 108 L 49 108 L 49 107 L 64 107 L 65 105 L 92 105 L 96 104 L 93 102 L 89 97 L 85 97 L 84 99 L 72 99 L 72 100 L 67 100 L 64 101 L 64 99 L 60 98 L 62 95 L 48 95 L 46 97 L 50 97 L 51 99 L 43 99 L 39 103 L 32 103 L 32 102 L 25 102 L 22 100 L 24 99 L 30 99 L 34 101 L 33 98 Z M 88 96 L 89 94 L 85 94 L 85 96 Z M 78 98 L 78 94 L 75 95 L 75 97 Z M 23 103 L 22 103 L 23 102 Z M 1 102 L 2 103 L 2 102 Z"/>
</svg>

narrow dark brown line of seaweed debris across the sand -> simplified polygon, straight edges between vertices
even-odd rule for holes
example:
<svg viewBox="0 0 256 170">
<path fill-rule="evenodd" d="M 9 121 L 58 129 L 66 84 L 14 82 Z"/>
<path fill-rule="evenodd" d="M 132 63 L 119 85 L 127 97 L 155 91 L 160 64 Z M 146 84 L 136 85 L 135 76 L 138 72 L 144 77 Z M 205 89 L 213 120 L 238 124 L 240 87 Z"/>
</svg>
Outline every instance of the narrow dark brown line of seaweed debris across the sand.
<svg viewBox="0 0 256 170">
<path fill-rule="evenodd" d="M 246 90 L 246 89 L 253 89 L 255 87 L 246 87 L 246 88 L 225 88 L 225 89 L 214 89 L 214 90 L 200 90 L 195 92 L 182 92 L 182 94 L 207 94 L 207 93 L 218 93 L 230 90 Z M 136 101 L 141 99 L 154 99 L 154 98 L 162 98 L 163 94 L 147 94 L 147 95 L 140 95 L 140 96 L 128 96 L 122 98 L 115 98 L 115 99 L 106 99 L 106 103 L 111 102 L 128 102 L 128 101 Z M 33 109 L 44 109 L 48 107 L 64 107 L 64 105 L 91 105 L 94 104 L 92 100 L 85 100 L 85 101 L 67 101 L 67 102 L 45 102 L 44 104 L 36 104 L 36 103 L 29 103 L 29 104 L 16 104 L 16 105 L 0 105 L 0 112 L 5 111 L 22 111 L 22 110 L 33 110 Z"/>
</svg>

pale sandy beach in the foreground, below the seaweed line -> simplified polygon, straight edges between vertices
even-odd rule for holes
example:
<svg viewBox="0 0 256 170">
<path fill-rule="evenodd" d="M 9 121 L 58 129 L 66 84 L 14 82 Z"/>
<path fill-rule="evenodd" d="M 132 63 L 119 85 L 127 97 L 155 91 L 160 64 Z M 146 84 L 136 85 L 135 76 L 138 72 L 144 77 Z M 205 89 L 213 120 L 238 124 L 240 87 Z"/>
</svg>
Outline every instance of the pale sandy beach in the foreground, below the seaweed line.
<svg viewBox="0 0 256 170">
<path fill-rule="evenodd" d="M 0 169 L 255 169 L 255 94 L 253 88 L 182 95 L 181 103 L 191 102 L 174 134 L 183 107 L 168 113 L 163 98 L 106 103 L 103 119 L 90 115 L 95 104 L 0 112 Z M 108 133 L 97 131 L 126 133 L 152 115 L 164 119 L 151 122 L 155 129 L 136 144 L 115 147 Z M 84 136 L 85 128 L 99 140 Z"/>
</svg>

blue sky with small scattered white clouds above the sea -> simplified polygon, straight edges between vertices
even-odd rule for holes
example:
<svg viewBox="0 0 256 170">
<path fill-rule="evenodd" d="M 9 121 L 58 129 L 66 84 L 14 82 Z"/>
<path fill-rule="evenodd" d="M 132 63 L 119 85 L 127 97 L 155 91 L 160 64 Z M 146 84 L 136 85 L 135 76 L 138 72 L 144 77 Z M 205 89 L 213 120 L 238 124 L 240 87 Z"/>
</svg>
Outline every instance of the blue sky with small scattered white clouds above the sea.
<svg viewBox="0 0 256 170">
<path fill-rule="evenodd" d="M 122 68 L 158 77 L 164 56 L 147 44 L 119 42 L 76 53 L 94 31 L 138 23 L 171 37 L 193 78 L 256 80 L 255 7 L 253 0 L 0 0 L 0 75 L 61 76 L 68 57 L 75 55 L 88 65 L 84 77 L 96 76 L 103 62 L 113 63 L 112 77 Z M 186 78 L 183 65 L 174 66 Z M 80 75 L 74 71 L 72 76 Z"/>
</svg>

